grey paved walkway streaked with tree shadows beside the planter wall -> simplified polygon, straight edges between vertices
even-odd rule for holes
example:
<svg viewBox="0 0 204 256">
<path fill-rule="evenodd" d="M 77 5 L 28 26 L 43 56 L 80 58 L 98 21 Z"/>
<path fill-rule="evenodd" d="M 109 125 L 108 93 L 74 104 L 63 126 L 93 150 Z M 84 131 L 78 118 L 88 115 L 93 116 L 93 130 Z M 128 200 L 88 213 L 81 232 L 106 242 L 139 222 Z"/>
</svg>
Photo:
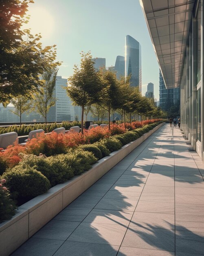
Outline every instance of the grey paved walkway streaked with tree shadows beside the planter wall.
<svg viewBox="0 0 204 256">
<path fill-rule="evenodd" d="M 162 126 L 12 255 L 204 255 L 204 166 L 187 148 Z"/>
</svg>

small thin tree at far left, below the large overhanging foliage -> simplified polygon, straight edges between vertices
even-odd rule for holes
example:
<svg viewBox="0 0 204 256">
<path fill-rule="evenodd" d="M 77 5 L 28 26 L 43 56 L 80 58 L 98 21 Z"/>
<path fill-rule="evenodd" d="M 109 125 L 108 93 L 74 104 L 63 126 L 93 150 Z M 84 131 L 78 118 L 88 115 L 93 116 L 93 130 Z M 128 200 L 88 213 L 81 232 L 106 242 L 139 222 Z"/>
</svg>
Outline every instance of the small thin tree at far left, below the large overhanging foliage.
<svg viewBox="0 0 204 256">
<path fill-rule="evenodd" d="M 21 117 L 24 112 L 29 112 L 31 109 L 30 99 L 24 96 L 18 96 L 15 99 L 11 100 L 11 104 L 13 104 L 15 110 L 10 110 L 13 114 L 20 117 L 20 127 L 21 127 Z"/>
</svg>

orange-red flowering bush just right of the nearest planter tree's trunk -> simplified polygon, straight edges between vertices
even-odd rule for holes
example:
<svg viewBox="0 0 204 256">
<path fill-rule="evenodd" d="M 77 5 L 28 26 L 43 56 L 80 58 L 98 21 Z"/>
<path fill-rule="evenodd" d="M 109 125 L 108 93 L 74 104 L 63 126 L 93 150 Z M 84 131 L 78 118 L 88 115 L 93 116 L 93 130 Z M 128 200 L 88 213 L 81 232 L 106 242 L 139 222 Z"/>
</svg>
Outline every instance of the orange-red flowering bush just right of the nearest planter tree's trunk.
<svg viewBox="0 0 204 256">
<path fill-rule="evenodd" d="M 92 128 L 91 130 L 84 131 L 84 136 L 92 144 L 100 139 L 107 138 L 111 135 L 111 132 L 107 127 L 101 128 L 100 126 Z"/>
</svg>

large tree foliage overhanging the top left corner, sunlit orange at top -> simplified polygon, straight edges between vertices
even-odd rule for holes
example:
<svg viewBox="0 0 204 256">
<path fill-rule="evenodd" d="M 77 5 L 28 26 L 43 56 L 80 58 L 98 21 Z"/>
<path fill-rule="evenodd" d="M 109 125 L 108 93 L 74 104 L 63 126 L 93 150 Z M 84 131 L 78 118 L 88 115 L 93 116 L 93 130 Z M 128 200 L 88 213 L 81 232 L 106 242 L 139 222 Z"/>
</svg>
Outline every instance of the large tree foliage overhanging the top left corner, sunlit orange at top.
<svg viewBox="0 0 204 256">
<path fill-rule="evenodd" d="M 39 74 L 60 65 L 54 63 L 56 45 L 42 47 L 41 36 L 21 30 L 28 4 L 33 0 L 0 0 L 0 102 L 35 92 L 43 85 Z M 27 38 L 24 40 L 23 38 Z"/>
</svg>

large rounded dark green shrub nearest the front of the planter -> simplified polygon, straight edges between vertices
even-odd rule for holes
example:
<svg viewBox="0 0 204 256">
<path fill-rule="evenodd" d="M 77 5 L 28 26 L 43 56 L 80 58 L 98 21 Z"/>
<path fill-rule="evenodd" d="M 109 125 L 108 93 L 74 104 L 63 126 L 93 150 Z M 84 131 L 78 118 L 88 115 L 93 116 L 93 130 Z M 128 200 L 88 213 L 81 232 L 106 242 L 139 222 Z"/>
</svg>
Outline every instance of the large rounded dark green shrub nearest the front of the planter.
<svg viewBox="0 0 204 256">
<path fill-rule="evenodd" d="M 18 205 L 45 193 L 50 188 L 49 180 L 34 167 L 28 165 L 15 166 L 10 171 L 6 171 L 2 178 L 7 180 L 7 186 Z"/>
</svg>

